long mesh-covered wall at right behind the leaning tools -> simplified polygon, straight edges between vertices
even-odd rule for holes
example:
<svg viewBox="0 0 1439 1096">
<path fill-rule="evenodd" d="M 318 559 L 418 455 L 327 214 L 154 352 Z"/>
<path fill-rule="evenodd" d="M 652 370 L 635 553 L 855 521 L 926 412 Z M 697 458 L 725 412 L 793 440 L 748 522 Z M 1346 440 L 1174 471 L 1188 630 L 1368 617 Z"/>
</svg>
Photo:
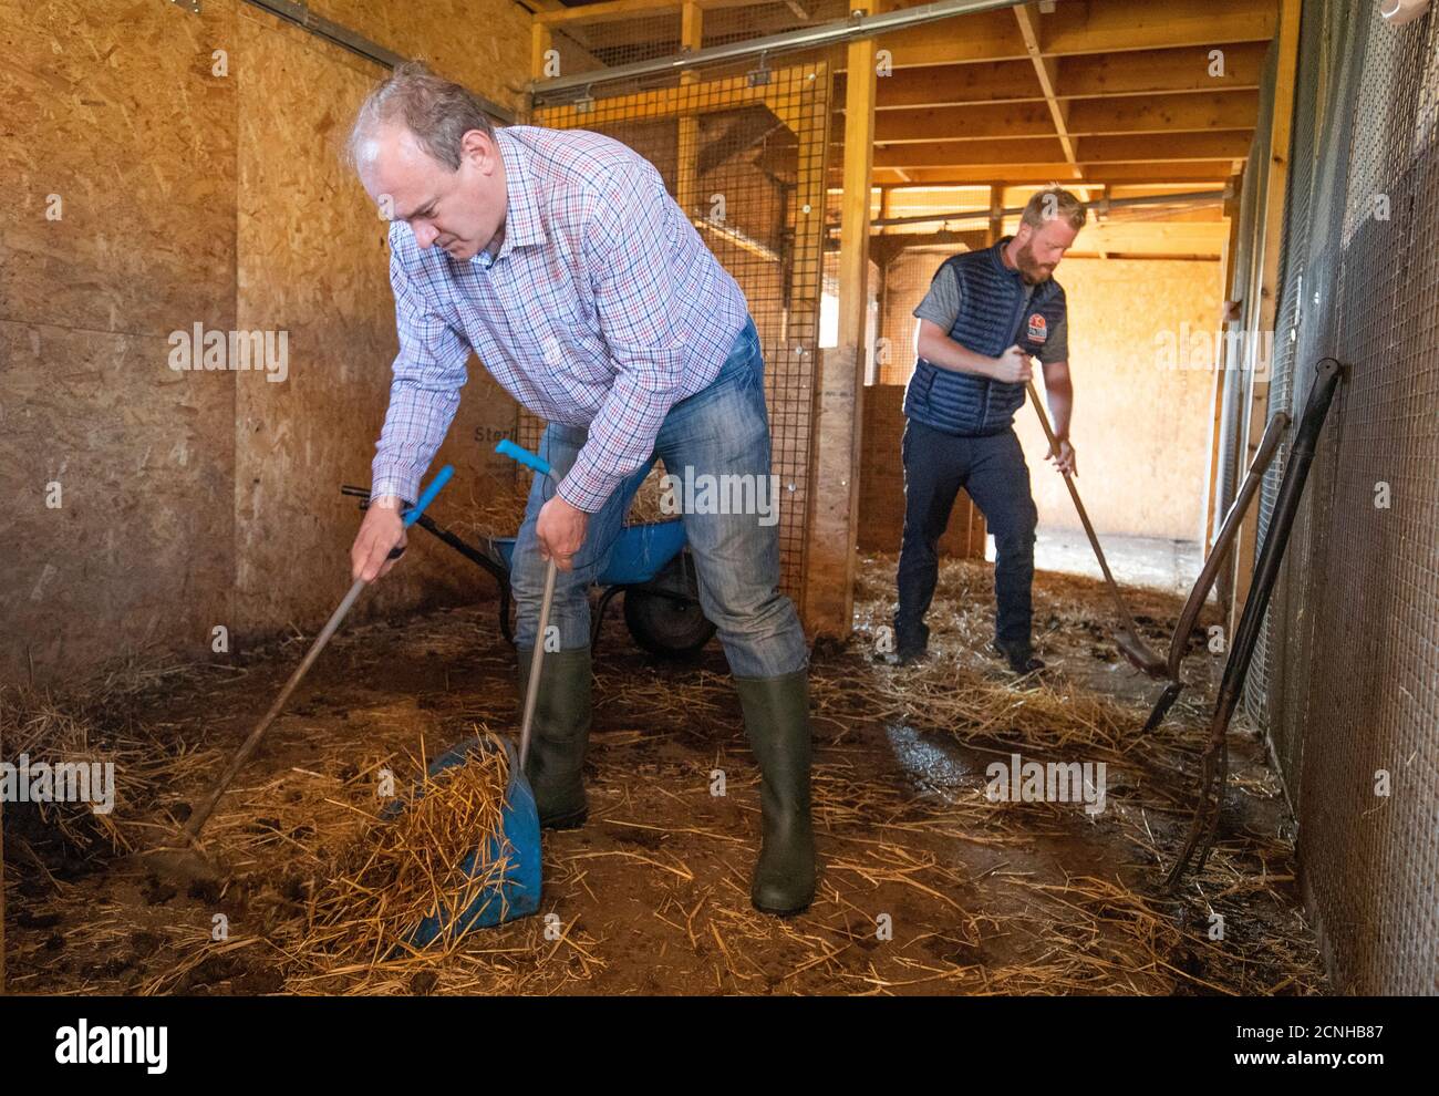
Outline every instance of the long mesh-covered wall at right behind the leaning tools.
<svg viewBox="0 0 1439 1096">
<path fill-rule="evenodd" d="M 1337 988 L 1439 992 L 1439 19 L 1304 9 L 1281 348 L 1345 367 L 1250 709 L 1299 820 Z M 1308 163 L 1305 163 L 1308 161 Z M 1252 282 L 1250 282 L 1252 285 Z M 1281 358 L 1282 361 L 1284 358 Z M 1278 473 L 1266 483 L 1268 534 Z M 1262 705 L 1253 705 L 1255 699 Z"/>
</svg>

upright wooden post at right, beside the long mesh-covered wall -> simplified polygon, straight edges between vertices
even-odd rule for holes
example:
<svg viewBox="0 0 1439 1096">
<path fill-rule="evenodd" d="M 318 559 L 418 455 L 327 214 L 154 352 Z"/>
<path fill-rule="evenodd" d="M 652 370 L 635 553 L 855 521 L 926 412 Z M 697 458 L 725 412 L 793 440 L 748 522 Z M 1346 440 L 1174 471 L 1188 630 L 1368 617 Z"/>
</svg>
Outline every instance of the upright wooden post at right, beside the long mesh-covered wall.
<svg viewBox="0 0 1439 1096">
<path fill-rule="evenodd" d="M 1263 354 L 1263 337 L 1274 332 L 1279 308 L 1279 252 L 1284 240 L 1285 220 L 1285 190 L 1289 178 L 1289 137 L 1294 129 L 1294 86 L 1299 68 L 1299 9 L 1301 0 L 1282 0 L 1279 14 L 1279 42 L 1274 83 L 1274 122 L 1269 137 L 1269 178 L 1265 190 L 1263 211 L 1263 265 L 1259 270 L 1258 296 L 1258 325 L 1253 334 L 1258 337 L 1255 358 Z M 1272 362 L 1271 362 L 1272 365 Z M 1239 463 L 1240 469 L 1249 467 L 1255 453 L 1259 450 L 1259 439 L 1263 434 L 1263 424 L 1269 408 L 1269 377 L 1261 371 L 1250 374 L 1249 404 L 1243 414 L 1243 446 L 1245 457 Z M 1235 600 L 1230 606 L 1229 634 L 1235 634 L 1239 614 L 1243 611 L 1249 597 L 1249 585 L 1253 580 L 1255 552 L 1259 541 L 1259 511 L 1250 509 L 1249 516 L 1239 528 L 1235 544 Z"/>
</svg>

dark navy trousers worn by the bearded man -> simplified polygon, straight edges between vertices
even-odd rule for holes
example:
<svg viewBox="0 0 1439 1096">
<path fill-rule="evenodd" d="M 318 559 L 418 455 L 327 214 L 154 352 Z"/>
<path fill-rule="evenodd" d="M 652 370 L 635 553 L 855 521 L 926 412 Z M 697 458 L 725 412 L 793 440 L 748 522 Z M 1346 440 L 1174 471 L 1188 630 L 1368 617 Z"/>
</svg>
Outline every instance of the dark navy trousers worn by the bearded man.
<svg viewBox="0 0 1439 1096">
<path fill-rule="evenodd" d="M 1029 650 L 1035 524 L 1029 465 L 1013 429 L 993 437 L 954 437 L 912 419 L 904 431 L 904 541 L 899 547 L 899 610 L 895 646 L 922 649 L 924 614 L 940 575 L 937 545 L 960 489 L 968 492 L 994 535 L 994 639 Z"/>
</svg>

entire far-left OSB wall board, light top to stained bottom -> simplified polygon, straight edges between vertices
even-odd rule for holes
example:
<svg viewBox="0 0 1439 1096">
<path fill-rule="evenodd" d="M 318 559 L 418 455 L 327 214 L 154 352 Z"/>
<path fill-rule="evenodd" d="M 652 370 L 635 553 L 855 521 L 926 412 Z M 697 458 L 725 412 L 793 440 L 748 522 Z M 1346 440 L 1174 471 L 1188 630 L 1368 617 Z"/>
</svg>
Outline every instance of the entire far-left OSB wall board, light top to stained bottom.
<svg viewBox="0 0 1439 1096">
<path fill-rule="evenodd" d="M 235 390 L 187 384 L 167 337 L 235 324 L 233 29 L 224 3 L 0 0 L 0 680 L 194 652 L 224 617 Z"/>
</svg>

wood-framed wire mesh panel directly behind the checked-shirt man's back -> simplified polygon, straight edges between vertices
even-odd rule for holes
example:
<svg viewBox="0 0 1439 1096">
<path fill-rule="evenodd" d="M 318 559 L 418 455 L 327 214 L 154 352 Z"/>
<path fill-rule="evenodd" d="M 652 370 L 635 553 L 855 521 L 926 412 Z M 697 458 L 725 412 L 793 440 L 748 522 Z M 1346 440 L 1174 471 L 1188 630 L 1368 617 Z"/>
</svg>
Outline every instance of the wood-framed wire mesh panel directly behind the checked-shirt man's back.
<svg viewBox="0 0 1439 1096">
<path fill-rule="evenodd" d="M 823 63 L 678 75 L 540 106 L 534 124 L 583 128 L 649 160 L 738 282 L 760 332 L 780 486 L 781 587 L 799 597 L 819 350 L 829 76 Z M 521 416 L 521 437 L 540 423 Z"/>
</svg>

